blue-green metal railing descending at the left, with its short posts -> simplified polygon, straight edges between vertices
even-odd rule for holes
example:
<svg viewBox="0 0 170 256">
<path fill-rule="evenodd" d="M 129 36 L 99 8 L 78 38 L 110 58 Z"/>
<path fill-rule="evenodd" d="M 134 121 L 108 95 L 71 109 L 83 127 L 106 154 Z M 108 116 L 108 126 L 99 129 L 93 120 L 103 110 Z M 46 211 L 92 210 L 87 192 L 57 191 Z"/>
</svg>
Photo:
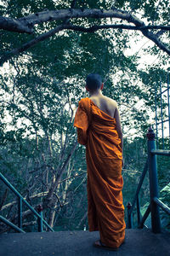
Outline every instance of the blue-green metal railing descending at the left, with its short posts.
<svg viewBox="0 0 170 256">
<path fill-rule="evenodd" d="M 13 224 L 11 221 L 9 221 L 7 218 L 3 218 L 2 215 L 0 215 L 0 221 L 2 221 L 4 224 L 7 224 L 8 226 L 10 226 L 12 229 L 18 231 L 18 232 L 22 232 L 22 233 L 26 233 L 23 229 L 22 229 L 22 205 L 23 203 L 26 204 L 26 207 L 28 207 L 31 212 L 33 212 L 33 214 L 37 217 L 37 225 L 38 225 L 38 232 L 42 232 L 43 231 L 43 225 L 46 226 L 48 228 L 48 230 L 51 230 L 54 232 L 54 230 L 48 225 L 48 223 L 42 218 L 42 206 L 38 206 L 37 207 L 37 211 L 31 207 L 31 205 L 22 197 L 22 195 L 20 195 L 20 193 L 14 188 L 14 186 L 8 182 L 8 180 L 6 179 L 6 177 L 3 176 L 3 174 L 0 172 L 0 179 L 2 180 L 2 182 L 8 187 L 8 189 L 10 189 L 11 191 L 14 192 L 14 195 L 16 195 L 18 197 L 18 226 Z"/>
</svg>

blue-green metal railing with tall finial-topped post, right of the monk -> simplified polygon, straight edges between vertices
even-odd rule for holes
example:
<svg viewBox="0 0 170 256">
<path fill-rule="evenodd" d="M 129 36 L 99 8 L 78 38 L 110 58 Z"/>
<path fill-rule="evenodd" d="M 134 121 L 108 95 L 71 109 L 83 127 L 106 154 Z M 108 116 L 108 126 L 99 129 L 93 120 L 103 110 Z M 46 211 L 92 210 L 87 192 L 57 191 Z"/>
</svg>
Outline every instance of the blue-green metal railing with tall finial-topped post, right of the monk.
<svg viewBox="0 0 170 256">
<path fill-rule="evenodd" d="M 170 208 L 167 207 L 161 200 L 159 200 L 158 195 L 158 178 L 157 178 L 157 166 L 156 166 L 156 154 L 170 156 L 170 150 L 158 150 L 156 149 L 155 133 L 153 130 L 149 129 L 147 133 L 148 137 L 148 159 L 144 166 L 144 171 L 140 177 L 139 185 L 136 190 L 133 204 L 129 202 L 127 204 L 127 229 L 133 228 L 133 209 L 137 203 L 137 216 L 138 216 L 138 228 L 144 227 L 144 222 L 148 218 L 151 212 L 151 228 L 154 233 L 161 232 L 161 221 L 159 207 L 164 212 L 170 215 Z M 150 204 L 144 212 L 144 216 L 141 216 L 140 205 L 139 205 L 139 191 L 141 189 L 142 183 L 144 182 L 144 177 L 146 172 L 149 170 L 150 178 Z"/>
</svg>

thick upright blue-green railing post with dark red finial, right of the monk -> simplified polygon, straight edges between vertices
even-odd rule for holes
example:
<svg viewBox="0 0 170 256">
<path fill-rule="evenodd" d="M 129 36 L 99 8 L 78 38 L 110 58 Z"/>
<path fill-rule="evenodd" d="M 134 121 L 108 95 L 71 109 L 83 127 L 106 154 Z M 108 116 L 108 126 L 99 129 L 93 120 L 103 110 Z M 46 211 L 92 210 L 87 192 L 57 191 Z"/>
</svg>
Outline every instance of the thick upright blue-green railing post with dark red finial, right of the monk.
<svg viewBox="0 0 170 256">
<path fill-rule="evenodd" d="M 156 154 L 151 154 L 151 150 L 156 149 L 155 133 L 150 127 L 147 133 L 148 137 L 148 160 L 150 174 L 150 210 L 151 210 L 151 226 L 154 233 L 161 232 L 160 212 L 159 207 L 154 202 L 154 197 L 158 198 L 158 180 Z"/>
</svg>

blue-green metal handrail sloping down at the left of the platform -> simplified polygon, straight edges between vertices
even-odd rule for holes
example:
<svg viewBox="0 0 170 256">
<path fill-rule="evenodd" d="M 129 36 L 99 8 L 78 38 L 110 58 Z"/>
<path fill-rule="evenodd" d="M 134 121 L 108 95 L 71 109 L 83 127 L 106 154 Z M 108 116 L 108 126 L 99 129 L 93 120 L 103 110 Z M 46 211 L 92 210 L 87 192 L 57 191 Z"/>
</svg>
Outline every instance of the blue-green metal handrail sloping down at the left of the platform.
<svg viewBox="0 0 170 256">
<path fill-rule="evenodd" d="M 15 195 L 18 196 L 19 198 L 19 225 L 20 225 L 20 230 L 21 230 L 21 212 L 22 212 L 22 201 L 26 204 L 26 206 L 31 210 L 31 212 L 34 213 L 34 215 L 37 216 L 38 220 L 41 220 L 41 221 L 38 221 L 38 230 L 39 231 L 42 231 L 42 224 L 44 224 L 46 227 L 48 227 L 49 230 L 53 231 L 54 230 L 50 227 L 50 225 L 42 218 L 42 209 L 39 211 L 40 214 L 33 208 L 31 207 L 31 205 L 24 199 L 24 197 L 22 195 L 20 195 L 20 193 L 14 188 L 14 186 L 8 182 L 7 178 L 3 176 L 3 174 L 0 172 L 0 179 L 3 181 L 3 183 L 6 184 L 6 186 L 8 186 L 8 188 L 10 190 L 12 190 L 14 192 Z M 1 216 L 1 220 L 5 223 L 4 221 L 4 218 L 2 218 L 3 216 Z M 6 218 L 5 218 L 6 219 Z M 8 223 L 8 220 L 6 219 L 6 224 Z M 11 223 L 12 224 L 12 223 Z M 15 226 L 15 225 L 14 225 Z M 14 228 L 13 226 L 13 228 Z M 12 227 L 12 225 L 11 225 Z M 15 228 L 14 228 L 15 229 Z M 16 229 L 15 229 L 16 230 Z M 20 231 L 20 230 L 17 230 L 17 231 Z"/>
</svg>

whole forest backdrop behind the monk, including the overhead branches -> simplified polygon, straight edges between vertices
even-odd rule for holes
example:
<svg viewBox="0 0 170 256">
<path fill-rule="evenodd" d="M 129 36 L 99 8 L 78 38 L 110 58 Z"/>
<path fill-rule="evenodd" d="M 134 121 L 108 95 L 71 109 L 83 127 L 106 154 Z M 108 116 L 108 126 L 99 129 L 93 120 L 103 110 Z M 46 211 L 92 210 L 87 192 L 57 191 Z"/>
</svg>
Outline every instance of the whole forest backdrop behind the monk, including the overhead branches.
<svg viewBox="0 0 170 256">
<path fill-rule="evenodd" d="M 159 93 L 160 81 L 167 86 L 169 13 L 166 0 L 0 2 L 0 170 L 32 207 L 42 204 L 54 230 L 88 229 L 85 148 L 77 145 L 73 127 L 88 73 L 99 73 L 105 96 L 118 103 L 125 208 L 133 201 L 147 157 L 145 135 L 155 124 L 155 87 Z M 166 102 L 164 95 L 165 117 Z M 159 157 L 160 196 L 167 205 L 169 166 Z M 148 177 L 140 200 L 144 212 Z M 16 223 L 16 198 L 3 183 L 0 212 Z M 23 212 L 25 229 L 36 230 L 36 218 Z M 163 212 L 161 224 L 170 227 Z M 0 229 L 8 230 L 2 223 Z"/>
</svg>

